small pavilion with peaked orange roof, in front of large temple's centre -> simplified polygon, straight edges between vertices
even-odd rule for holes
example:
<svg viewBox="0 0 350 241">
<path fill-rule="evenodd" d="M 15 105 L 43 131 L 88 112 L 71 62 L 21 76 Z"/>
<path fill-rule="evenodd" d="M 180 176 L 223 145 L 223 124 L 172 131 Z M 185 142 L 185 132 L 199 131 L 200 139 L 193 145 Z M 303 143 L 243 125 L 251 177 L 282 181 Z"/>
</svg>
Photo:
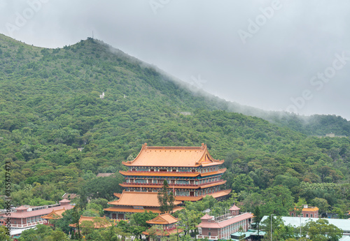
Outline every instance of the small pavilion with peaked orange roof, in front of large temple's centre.
<svg viewBox="0 0 350 241">
<path fill-rule="evenodd" d="M 160 230 L 156 230 L 155 235 L 169 236 L 171 234 L 181 233 L 183 231 L 182 229 L 176 228 L 177 221 L 178 219 L 173 217 L 171 214 L 165 213 L 165 214 L 159 214 L 154 219 L 146 221 L 146 223 L 151 224 L 151 228 L 156 225 L 160 226 Z M 150 238 L 151 228 L 148 229 L 148 231 L 142 232 L 144 235 L 148 235 L 148 238 Z"/>
</svg>

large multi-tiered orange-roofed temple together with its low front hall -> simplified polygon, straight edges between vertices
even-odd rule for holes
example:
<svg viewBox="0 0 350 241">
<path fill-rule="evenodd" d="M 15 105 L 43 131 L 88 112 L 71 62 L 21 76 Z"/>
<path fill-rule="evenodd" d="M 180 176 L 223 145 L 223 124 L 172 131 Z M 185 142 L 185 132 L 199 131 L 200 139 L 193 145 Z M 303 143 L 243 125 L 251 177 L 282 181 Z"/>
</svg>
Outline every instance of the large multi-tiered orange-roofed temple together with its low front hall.
<svg viewBox="0 0 350 241">
<path fill-rule="evenodd" d="M 200 147 L 148 147 L 133 161 L 125 161 L 127 171 L 120 171 L 125 182 L 120 184 L 123 193 L 114 193 L 119 200 L 109 202 L 111 207 L 104 209 L 111 219 L 125 219 L 126 213 L 160 213 L 157 194 L 167 180 L 169 191 L 175 196 L 174 212 L 181 210 L 177 205 L 185 200 L 201 200 L 210 195 L 223 199 L 231 189 L 223 189 L 225 180 L 221 177 L 226 168 L 220 168 L 223 160 L 211 157 L 207 145 Z"/>
</svg>

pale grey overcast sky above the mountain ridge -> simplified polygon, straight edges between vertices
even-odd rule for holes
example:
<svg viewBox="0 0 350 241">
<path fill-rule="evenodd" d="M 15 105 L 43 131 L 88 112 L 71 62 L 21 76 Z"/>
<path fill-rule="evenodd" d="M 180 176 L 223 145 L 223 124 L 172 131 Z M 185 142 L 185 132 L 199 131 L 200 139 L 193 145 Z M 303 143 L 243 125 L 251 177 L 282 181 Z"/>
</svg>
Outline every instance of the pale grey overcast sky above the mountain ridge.
<svg viewBox="0 0 350 241">
<path fill-rule="evenodd" d="M 350 119 L 350 1 L 0 0 L 0 33 L 92 36 L 243 105 Z"/>
</svg>

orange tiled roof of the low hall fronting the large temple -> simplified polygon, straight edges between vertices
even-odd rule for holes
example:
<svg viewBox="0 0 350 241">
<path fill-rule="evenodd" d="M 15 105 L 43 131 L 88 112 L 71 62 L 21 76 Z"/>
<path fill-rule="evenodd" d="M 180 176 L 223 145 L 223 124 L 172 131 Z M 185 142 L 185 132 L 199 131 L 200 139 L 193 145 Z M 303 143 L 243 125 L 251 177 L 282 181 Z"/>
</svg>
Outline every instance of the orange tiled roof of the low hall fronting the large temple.
<svg viewBox="0 0 350 241">
<path fill-rule="evenodd" d="M 175 201 L 174 205 L 179 205 L 180 203 L 179 201 Z M 119 200 L 111 201 L 109 204 L 118 206 L 160 207 L 158 193 L 143 191 L 123 191 Z"/>
</svg>

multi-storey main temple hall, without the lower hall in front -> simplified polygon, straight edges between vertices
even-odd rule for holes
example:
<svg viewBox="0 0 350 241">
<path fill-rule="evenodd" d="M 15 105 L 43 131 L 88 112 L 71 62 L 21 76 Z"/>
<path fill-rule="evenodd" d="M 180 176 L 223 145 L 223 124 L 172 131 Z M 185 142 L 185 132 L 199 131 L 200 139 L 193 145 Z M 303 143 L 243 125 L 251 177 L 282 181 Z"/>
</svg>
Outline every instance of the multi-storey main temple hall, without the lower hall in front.
<svg viewBox="0 0 350 241">
<path fill-rule="evenodd" d="M 207 195 L 221 199 L 231 191 L 223 190 L 223 163 L 211 157 L 204 143 L 200 147 L 148 147 L 145 143 L 133 161 L 123 162 L 129 170 L 120 171 L 125 177 L 120 185 L 126 191 L 158 192 L 167 180 L 176 200 L 195 201 Z"/>
</svg>

